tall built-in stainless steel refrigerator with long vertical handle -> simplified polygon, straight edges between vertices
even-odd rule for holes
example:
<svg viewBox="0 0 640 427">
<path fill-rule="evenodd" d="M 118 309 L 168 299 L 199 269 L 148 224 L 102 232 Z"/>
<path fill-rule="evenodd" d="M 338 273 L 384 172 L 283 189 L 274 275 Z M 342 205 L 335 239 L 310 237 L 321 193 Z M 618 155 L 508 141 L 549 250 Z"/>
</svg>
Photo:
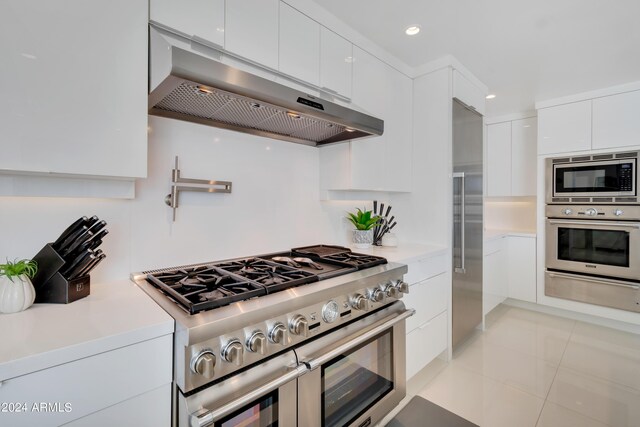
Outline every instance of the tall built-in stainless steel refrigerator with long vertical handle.
<svg viewBox="0 0 640 427">
<path fill-rule="evenodd" d="M 482 116 L 453 100 L 452 345 L 482 323 Z"/>
</svg>

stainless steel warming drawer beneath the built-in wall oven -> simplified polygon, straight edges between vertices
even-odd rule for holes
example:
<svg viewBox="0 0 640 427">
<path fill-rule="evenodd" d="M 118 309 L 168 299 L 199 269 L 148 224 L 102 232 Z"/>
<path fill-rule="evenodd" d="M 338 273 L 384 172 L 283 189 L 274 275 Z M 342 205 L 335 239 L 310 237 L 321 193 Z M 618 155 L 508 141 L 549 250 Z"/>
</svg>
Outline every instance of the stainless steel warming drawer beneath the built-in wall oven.
<svg viewBox="0 0 640 427">
<path fill-rule="evenodd" d="M 640 313 L 640 290 L 633 283 L 551 271 L 545 276 L 547 296 Z"/>
</svg>

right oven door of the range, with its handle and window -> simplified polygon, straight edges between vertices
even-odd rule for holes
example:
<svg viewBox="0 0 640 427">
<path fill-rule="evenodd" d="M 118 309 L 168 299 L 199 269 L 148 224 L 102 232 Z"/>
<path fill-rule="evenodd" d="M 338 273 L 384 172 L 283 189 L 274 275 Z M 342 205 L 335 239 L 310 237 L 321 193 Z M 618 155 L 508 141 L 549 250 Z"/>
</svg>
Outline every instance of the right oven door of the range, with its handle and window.
<svg viewBox="0 0 640 427">
<path fill-rule="evenodd" d="M 368 426 L 406 394 L 405 319 L 395 302 L 298 349 L 311 372 L 298 380 L 298 425 Z"/>
</svg>

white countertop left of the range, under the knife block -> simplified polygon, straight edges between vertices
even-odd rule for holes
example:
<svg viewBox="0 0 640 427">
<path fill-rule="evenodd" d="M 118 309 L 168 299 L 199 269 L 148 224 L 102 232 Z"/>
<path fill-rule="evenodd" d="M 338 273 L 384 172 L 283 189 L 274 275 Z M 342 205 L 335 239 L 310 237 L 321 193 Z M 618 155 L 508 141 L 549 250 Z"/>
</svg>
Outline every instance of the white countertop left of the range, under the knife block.
<svg viewBox="0 0 640 427">
<path fill-rule="evenodd" d="M 92 283 L 70 304 L 0 314 L 0 381 L 173 331 L 173 318 L 133 282 Z"/>
</svg>

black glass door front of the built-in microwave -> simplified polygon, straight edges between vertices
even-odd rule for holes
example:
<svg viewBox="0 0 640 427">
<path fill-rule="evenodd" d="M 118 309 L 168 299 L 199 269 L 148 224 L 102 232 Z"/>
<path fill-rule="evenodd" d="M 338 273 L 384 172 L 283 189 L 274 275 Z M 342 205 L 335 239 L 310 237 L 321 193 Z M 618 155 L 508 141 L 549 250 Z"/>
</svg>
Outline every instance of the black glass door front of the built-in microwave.
<svg viewBox="0 0 640 427">
<path fill-rule="evenodd" d="M 556 166 L 555 191 L 567 193 L 620 193 L 633 191 L 633 162 L 597 162 L 585 166 Z"/>
</svg>

